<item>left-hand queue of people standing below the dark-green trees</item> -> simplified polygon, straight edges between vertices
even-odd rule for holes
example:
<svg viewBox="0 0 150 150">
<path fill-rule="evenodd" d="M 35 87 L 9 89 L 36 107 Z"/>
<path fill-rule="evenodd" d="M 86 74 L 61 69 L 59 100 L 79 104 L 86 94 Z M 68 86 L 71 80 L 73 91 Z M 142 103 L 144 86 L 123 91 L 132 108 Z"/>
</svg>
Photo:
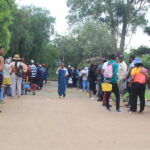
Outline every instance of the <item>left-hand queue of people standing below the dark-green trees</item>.
<svg viewBox="0 0 150 150">
<path fill-rule="evenodd" d="M 25 62 L 18 54 L 13 58 L 3 58 L 4 49 L 0 47 L 0 103 L 4 103 L 7 96 L 18 98 L 43 88 L 47 83 L 48 67 L 45 64 L 30 64 Z"/>
</svg>

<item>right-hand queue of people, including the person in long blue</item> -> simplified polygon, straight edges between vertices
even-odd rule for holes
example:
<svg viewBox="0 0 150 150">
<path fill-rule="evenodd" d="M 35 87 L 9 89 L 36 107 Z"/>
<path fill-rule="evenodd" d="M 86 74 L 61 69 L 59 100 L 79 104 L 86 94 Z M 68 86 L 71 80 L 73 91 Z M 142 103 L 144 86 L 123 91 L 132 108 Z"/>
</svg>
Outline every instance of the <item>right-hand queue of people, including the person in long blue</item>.
<svg viewBox="0 0 150 150">
<path fill-rule="evenodd" d="M 133 55 L 129 59 L 129 67 L 124 61 L 123 55 L 110 55 L 109 58 L 101 58 L 98 64 L 77 69 L 61 65 L 57 70 L 59 96 L 66 96 L 66 87 L 80 88 L 89 93 L 89 98 L 101 101 L 108 111 L 111 111 L 109 103 L 112 93 L 115 95 L 116 112 L 121 112 L 120 103 L 123 95 L 128 92 L 128 104 L 130 113 L 137 112 L 137 99 L 140 99 L 140 110 L 145 108 L 145 90 L 148 82 L 148 70 L 143 67 L 141 58 Z M 63 79 L 63 80 L 62 80 Z M 62 87 L 61 87 L 62 86 Z M 62 90 L 63 89 L 63 90 Z"/>
</svg>

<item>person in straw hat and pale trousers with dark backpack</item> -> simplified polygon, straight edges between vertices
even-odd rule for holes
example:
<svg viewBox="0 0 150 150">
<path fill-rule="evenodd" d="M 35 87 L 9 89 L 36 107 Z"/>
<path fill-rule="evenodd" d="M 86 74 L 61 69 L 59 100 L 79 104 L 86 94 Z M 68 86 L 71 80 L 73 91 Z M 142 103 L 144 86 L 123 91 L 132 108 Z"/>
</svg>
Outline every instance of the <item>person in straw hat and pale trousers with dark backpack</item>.
<svg viewBox="0 0 150 150">
<path fill-rule="evenodd" d="M 21 95 L 21 83 L 23 72 L 27 72 L 27 66 L 21 62 L 21 58 L 16 54 L 13 61 L 10 63 L 12 76 L 12 96 Z"/>
</svg>

